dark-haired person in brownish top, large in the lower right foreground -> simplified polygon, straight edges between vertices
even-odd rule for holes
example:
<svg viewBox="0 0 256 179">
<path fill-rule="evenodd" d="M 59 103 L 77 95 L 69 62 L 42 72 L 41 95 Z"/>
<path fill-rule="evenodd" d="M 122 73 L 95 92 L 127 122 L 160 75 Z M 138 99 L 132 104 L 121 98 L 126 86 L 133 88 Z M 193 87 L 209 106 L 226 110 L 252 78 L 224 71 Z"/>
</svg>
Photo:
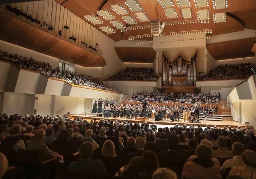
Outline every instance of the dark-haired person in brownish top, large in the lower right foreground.
<svg viewBox="0 0 256 179">
<path fill-rule="evenodd" d="M 197 158 L 185 163 L 181 179 L 222 179 L 220 167 L 212 159 L 212 149 L 204 144 L 197 148 Z M 209 175 L 210 174 L 210 175 Z"/>
</svg>

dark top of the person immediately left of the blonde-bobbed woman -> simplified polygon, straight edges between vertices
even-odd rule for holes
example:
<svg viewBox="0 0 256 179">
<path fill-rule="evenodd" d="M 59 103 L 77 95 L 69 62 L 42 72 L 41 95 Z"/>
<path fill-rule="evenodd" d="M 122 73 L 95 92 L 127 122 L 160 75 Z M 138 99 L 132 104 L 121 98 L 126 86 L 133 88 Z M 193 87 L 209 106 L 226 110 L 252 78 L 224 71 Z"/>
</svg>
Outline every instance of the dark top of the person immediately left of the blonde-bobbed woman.
<svg viewBox="0 0 256 179">
<path fill-rule="evenodd" d="M 86 172 L 90 174 L 107 175 L 104 163 L 101 160 L 81 160 L 73 161 L 69 165 L 69 170 L 74 172 Z"/>
</svg>

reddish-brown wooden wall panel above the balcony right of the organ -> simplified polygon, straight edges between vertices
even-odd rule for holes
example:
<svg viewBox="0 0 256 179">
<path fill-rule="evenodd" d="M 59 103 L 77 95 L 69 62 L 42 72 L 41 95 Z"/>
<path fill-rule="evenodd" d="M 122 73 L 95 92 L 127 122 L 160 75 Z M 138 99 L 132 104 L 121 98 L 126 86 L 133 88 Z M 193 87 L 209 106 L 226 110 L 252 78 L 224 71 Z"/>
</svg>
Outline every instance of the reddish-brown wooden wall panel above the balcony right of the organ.
<svg viewBox="0 0 256 179">
<path fill-rule="evenodd" d="M 255 40 L 256 37 L 208 44 L 207 50 L 216 60 L 253 57 Z"/>
</svg>

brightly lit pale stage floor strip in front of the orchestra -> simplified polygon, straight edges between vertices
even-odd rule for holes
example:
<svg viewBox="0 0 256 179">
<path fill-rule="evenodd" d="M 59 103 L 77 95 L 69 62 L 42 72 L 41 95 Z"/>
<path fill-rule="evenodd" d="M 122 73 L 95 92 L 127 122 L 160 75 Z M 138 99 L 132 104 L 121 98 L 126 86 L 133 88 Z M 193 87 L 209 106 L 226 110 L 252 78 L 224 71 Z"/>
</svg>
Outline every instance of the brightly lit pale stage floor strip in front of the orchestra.
<svg viewBox="0 0 256 179">
<path fill-rule="evenodd" d="M 108 120 L 110 119 L 111 121 L 130 121 L 131 123 L 143 123 L 144 121 L 137 121 L 135 120 L 135 118 L 133 119 L 124 119 L 124 118 L 104 118 L 104 117 L 96 117 L 96 116 L 85 116 L 85 115 L 69 115 L 69 116 L 72 116 L 72 118 L 77 118 L 77 117 L 80 117 L 80 118 L 83 118 L 83 119 L 86 119 L 88 121 L 90 120 L 93 120 L 93 119 L 104 119 L 104 120 Z M 169 121 L 154 121 L 152 119 L 150 120 L 147 120 L 147 123 L 148 124 L 152 124 L 152 122 L 155 122 L 155 124 L 160 124 L 160 125 L 175 125 L 175 124 L 179 124 L 179 125 L 183 125 L 183 124 L 186 124 L 187 126 L 190 126 L 192 123 L 190 122 L 187 122 L 187 121 L 179 121 L 179 122 L 171 122 L 170 120 Z M 239 123 L 237 121 L 205 121 L 205 122 L 200 122 L 200 123 L 195 123 L 195 126 L 197 126 L 198 124 L 200 124 L 202 127 L 205 127 L 207 124 L 209 124 L 211 127 L 213 127 L 213 125 L 216 125 L 217 127 L 228 127 L 228 126 L 231 126 L 231 127 L 236 127 L 237 126 L 240 126 L 240 127 L 246 127 L 246 128 L 253 128 L 253 126 L 251 125 L 248 125 L 246 126 L 246 124 L 242 124 L 242 123 Z"/>
</svg>

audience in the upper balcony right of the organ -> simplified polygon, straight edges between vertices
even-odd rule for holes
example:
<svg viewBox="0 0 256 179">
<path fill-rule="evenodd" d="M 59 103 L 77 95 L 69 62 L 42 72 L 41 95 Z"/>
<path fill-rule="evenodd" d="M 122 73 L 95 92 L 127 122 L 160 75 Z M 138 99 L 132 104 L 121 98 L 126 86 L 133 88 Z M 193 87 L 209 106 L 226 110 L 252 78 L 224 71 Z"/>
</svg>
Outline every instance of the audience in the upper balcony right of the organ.
<svg viewBox="0 0 256 179">
<path fill-rule="evenodd" d="M 229 78 L 247 78 L 252 74 L 250 63 L 225 64 L 219 65 L 209 71 L 199 79 L 229 79 Z"/>
</svg>

